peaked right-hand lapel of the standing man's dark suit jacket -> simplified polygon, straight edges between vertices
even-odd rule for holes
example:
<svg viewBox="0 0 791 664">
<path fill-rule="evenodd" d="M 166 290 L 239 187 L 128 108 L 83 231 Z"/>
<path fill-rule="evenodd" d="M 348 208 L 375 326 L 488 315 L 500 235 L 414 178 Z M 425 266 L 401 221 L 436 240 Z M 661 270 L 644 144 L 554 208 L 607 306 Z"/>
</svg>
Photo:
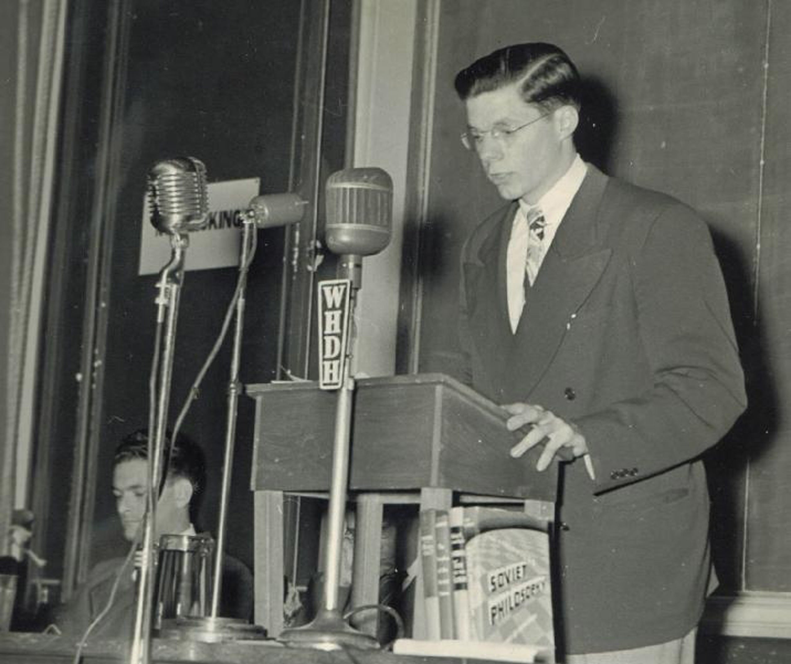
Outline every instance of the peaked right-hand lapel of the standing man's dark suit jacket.
<svg viewBox="0 0 791 664">
<path fill-rule="evenodd" d="M 607 176 L 589 166 L 532 286 L 514 339 L 512 366 L 505 374 L 514 374 L 518 367 L 520 378 L 514 378 L 518 385 L 513 388 L 522 398 L 546 373 L 570 317 L 588 298 L 610 259 L 611 250 L 601 244 L 608 220 L 599 218 L 606 185 Z"/>
</svg>

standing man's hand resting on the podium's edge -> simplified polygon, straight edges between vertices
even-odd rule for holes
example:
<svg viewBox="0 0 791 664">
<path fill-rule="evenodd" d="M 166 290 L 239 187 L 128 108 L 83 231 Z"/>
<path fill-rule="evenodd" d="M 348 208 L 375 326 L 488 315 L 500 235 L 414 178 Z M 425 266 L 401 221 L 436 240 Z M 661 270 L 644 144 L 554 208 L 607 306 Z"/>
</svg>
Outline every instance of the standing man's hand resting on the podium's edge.
<svg viewBox="0 0 791 664">
<path fill-rule="evenodd" d="M 532 404 L 506 404 L 503 408 L 511 415 L 505 423 L 509 431 L 530 427 L 528 434 L 511 448 L 512 457 L 521 457 L 539 442 L 546 442 L 536 463 L 536 470 L 547 469 L 554 456 L 569 461 L 569 457 L 582 457 L 588 453 L 588 445 L 581 431 L 553 412 Z"/>
</svg>

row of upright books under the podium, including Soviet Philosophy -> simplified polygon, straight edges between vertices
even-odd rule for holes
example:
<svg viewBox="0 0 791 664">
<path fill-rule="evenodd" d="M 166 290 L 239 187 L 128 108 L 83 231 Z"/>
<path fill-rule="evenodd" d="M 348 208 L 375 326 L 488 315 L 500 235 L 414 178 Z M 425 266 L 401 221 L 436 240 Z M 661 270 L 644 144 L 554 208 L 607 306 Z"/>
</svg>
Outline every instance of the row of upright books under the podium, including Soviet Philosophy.
<svg viewBox="0 0 791 664">
<path fill-rule="evenodd" d="M 419 545 L 429 642 L 554 651 L 546 523 L 495 507 L 423 510 Z"/>
</svg>

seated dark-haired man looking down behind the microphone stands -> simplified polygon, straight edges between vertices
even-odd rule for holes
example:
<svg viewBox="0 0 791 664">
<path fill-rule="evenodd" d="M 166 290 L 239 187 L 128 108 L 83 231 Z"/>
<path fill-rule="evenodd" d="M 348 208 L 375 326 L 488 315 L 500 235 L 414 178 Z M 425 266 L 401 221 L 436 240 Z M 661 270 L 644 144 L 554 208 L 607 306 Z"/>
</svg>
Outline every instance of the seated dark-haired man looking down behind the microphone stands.
<svg viewBox="0 0 791 664">
<path fill-rule="evenodd" d="M 148 434 L 144 429 L 123 438 L 113 459 L 112 490 L 115 507 L 121 519 L 123 537 L 142 540 L 148 491 Z M 192 499 L 205 484 L 206 464 L 202 450 L 184 436 L 176 438 L 168 465 L 167 479 L 157 503 L 154 541 L 163 534 L 195 535 L 191 520 Z M 88 579 L 74 597 L 58 612 L 55 624 L 64 634 L 81 636 L 89 624 L 108 605 L 112 587 L 124 558 L 104 560 L 93 567 Z M 134 630 L 135 583 L 134 567 L 123 572 L 112 607 L 91 632 L 92 639 L 131 639 Z M 223 617 L 252 618 L 253 585 L 248 567 L 227 554 L 222 562 L 222 597 L 219 613 Z"/>
</svg>

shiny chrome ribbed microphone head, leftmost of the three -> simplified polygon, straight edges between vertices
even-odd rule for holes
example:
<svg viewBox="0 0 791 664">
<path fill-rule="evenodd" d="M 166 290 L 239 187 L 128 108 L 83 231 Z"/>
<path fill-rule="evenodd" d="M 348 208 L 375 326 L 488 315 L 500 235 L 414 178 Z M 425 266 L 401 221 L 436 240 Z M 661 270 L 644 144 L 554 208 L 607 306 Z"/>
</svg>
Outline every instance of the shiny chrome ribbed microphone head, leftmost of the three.
<svg viewBox="0 0 791 664">
<path fill-rule="evenodd" d="M 151 223 L 162 233 L 184 233 L 206 226 L 209 194 L 206 166 L 195 157 L 157 161 L 148 176 Z"/>
</svg>

